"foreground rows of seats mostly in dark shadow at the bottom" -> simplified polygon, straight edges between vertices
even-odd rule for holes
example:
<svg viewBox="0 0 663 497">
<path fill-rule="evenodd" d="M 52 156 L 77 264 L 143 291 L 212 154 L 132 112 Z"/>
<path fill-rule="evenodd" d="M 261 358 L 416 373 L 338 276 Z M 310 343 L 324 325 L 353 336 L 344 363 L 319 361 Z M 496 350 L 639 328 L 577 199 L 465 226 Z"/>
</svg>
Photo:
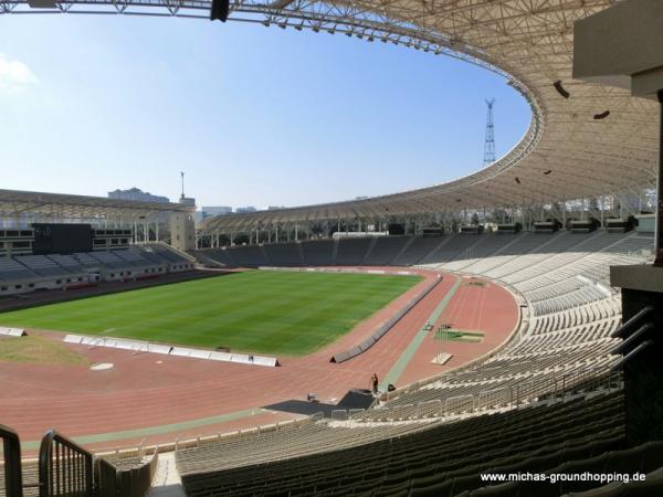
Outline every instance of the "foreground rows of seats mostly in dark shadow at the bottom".
<svg viewBox="0 0 663 497">
<path fill-rule="evenodd" d="M 623 416 L 623 395 L 617 392 L 455 423 L 409 423 L 413 427 L 402 434 L 390 433 L 391 423 L 378 424 L 371 430 L 382 430 L 383 438 L 350 447 L 337 442 L 347 437 L 343 431 L 359 429 L 325 425 L 317 429 L 324 440 L 319 443 L 315 436 L 275 432 L 238 438 L 232 446 L 179 451 L 176 459 L 189 496 L 454 496 L 482 487 L 483 473 L 544 472 L 621 450 Z M 338 438 L 330 435 L 337 430 Z M 281 441 L 271 444 L 271 437 Z M 271 461 L 253 457 L 267 446 Z M 303 446 L 311 454 L 303 454 Z M 243 465 L 229 467 L 238 454 L 245 454 Z M 656 464 L 663 461 L 652 461 L 645 469 Z"/>
</svg>

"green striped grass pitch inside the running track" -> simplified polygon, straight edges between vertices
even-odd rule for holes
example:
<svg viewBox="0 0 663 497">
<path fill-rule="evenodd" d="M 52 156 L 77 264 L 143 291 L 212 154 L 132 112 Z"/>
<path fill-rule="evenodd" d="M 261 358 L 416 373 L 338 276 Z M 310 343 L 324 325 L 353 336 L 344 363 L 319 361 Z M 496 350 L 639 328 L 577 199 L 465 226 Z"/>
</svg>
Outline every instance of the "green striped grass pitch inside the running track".
<svg viewBox="0 0 663 497">
<path fill-rule="evenodd" d="M 0 314 L 0 325 L 303 356 L 420 276 L 253 271 Z"/>
</svg>

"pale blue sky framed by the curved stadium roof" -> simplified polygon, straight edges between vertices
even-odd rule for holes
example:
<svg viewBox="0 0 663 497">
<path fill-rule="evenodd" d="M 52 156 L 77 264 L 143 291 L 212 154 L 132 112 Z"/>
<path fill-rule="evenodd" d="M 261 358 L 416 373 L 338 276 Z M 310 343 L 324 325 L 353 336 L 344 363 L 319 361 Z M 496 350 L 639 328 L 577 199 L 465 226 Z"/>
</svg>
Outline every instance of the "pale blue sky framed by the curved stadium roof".
<svg viewBox="0 0 663 497">
<path fill-rule="evenodd" d="M 425 187 L 529 124 L 506 82 L 328 33 L 186 19 L 0 15 L 0 188 L 297 205 Z"/>
</svg>

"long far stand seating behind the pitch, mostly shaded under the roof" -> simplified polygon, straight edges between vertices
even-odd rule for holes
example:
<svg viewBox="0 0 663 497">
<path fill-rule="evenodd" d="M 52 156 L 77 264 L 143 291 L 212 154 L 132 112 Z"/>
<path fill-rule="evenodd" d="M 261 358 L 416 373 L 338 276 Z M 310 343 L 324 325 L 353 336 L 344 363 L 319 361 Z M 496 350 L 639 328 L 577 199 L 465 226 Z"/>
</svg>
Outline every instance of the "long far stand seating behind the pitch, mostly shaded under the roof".
<svg viewBox="0 0 663 497">
<path fill-rule="evenodd" d="M 628 264 L 646 258 L 652 239 L 603 231 L 590 234 L 454 234 L 433 237 L 380 236 L 339 240 L 314 240 L 265 245 L 197 251 L 203 263 L 217 261 L 224 266 L 261 265 L 422 265 L 423 267 L 482 274 L 506 283 L 529 281 L 546 275 L 587 254 L 602 252 L 586 269 L 593 281 L 606 279 L 606 260 Z M 619 254 L 620 257 L 613 257 Z M 551 258 L 557 255 L 559 258 Z M 207 258 L 207 261 L 206 261 Z M 548 261 L 550 260 L 550 261 Z M 564 274 L 560 273 L 564 278 Z M 535 285 L 534 282 L 530 285 Z M 538 282 L 536 285 L 538 286 Z"/>
</svg>

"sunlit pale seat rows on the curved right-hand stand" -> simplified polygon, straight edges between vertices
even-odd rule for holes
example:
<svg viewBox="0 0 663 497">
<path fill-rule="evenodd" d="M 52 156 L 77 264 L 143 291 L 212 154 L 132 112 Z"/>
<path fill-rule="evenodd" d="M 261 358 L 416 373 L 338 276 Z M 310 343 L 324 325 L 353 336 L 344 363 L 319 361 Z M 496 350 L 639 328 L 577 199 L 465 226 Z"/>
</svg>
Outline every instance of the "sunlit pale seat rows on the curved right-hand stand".
<svg viewBox="0 0 663 497">
<path fill-rule="evenodd" d="M 532 247 L 532 236 L 540 240 L 538 247 L 502 262 L 502 267 L 511 267 L 503 281 L 512 283 L 529 303 L 527 327 L 491 359 L 404 392 L 365 413 L 362 419 L 440 415 L 445 410 L 462 408 L 464 396 L 465 402 L 470 399 L 477 402 L 490 390 L 494 393 L 485 402 L 497 406 L 508 403 L 505 399 L 511 399 L 524 382 L 538 383 L 545 389 L 556 378 L 573 378 L 587 368 L 600 369 L 617 361 L 610 350 L 619 340 L 611 339 L 610 334 L 620 324 L 620 300 L 609 286 L 608 273 L 597 269 L 610 264 L 645 262 L 646 257 L 638 252 L 651 247 L 651 239 L 634 234 L 615 237 L 602 232 L 527 234 L 516 243 Z M 511 245 L 512 250 L 516 243 Z M 475 264 L 486 275 L 495 267 L 487 264 L 488 258 L 484 261 L 486 264 Z M 429 266 L 445 269 L 452 263 L 433 262 Z M 546 269 L 540 269 L 541 266 Z M 472 271 L 472 266 L 463 271 L 482 274 Z M 537 393 L 540 392 L 533 390 L 528 395 Z"/>
</svg>

